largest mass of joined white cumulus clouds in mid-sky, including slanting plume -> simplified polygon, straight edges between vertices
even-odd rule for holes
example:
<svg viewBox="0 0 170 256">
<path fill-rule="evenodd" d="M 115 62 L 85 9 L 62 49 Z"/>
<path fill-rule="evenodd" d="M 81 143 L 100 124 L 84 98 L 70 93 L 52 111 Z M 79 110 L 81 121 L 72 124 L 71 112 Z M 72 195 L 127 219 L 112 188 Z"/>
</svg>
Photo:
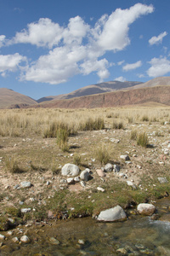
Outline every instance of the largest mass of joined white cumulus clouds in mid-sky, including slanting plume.
<svg viewBox="0 0 170 256">
<path fill-rule="evenodd" d="M 111 67 L 104 57 L 105 53 L 125 49 L 130 44 L 130 25 L 141 15 L 153 11 L 152 5 L 137 3 L 129 9 L 116 9 L 111 15 L 103 15 L 94 27 L 80 16 L 71 18 L 67 26 L 41 18 L 28 24 L 21 32 L 16 32 L 7 44 L 33 44 L 48 48 L 48 54 L 41 55 L 26 67 L 22 80 L 60 84 L 76 74 L 96 73 L 102 81 L 109 77 Z M 136 68 L 132 65 L 135 64 L 125 69 Z"/>
</svg>

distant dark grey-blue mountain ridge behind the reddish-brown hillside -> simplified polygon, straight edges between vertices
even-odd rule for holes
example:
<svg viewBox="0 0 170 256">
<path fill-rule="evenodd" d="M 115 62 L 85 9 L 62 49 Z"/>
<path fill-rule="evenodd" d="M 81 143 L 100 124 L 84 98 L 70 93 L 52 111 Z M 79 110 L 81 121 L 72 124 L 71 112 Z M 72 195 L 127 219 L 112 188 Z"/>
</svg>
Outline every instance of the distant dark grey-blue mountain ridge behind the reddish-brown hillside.
<svg viewBox="0 0 170 256">
<path fill-rule="evenodd" d="M 120 81 L 110 81 L 100 84 L 92 84 L 85 87 L 82 87 L 81 89 L 74 90 L 71 93 L 68 94 L 62 94 L 59 96 L 47 96 L 42 97 L 41 99 L 37 100 L 38 103 L 40 102 L 48 102 L 51 100 L 62 100 L 62 99 L 71 99 L 75 97 L 80 96 L 88 96 L 88 95 L 94 95 L 99 93 L 105 93 L 115 90 L 122 90 L 126 88 L 133 88 L 136 84 L 143 84 L 142 82 L 120 82 Z"/>
</svg>

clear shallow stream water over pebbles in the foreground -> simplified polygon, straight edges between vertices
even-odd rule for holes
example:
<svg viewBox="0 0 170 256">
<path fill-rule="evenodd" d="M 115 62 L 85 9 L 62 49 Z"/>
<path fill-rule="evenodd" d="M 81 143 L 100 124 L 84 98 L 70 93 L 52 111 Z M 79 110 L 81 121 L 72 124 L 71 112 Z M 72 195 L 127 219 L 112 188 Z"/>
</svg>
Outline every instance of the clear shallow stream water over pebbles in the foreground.
<svg viewBox="0 0 170 256">
<path fill-rule="evenodd" d="M 170 201 L 159 201 L 159 212 L 170 219 Z M 8 245 L 0 255 L 170 255 L 170 222 L 134 216 L 122 223 L 98 223 L 92 218 L 31 227 L 27 245 Z M 60 241 L 53 245 L 50 237 Z M 84 245 L 78 244 L 78 240 Z M 118 249 L 124 249 L 123 253 Z"/>
</svg>

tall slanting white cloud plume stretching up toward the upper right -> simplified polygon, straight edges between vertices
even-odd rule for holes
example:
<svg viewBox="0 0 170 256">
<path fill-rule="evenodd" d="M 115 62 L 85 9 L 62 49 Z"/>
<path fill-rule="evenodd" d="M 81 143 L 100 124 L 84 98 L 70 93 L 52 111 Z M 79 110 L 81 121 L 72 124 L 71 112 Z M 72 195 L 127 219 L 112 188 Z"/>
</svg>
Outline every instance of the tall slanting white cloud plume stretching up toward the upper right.
<svg viewBox="0 0 170 256">
<path fill-rule="evenodd" d="M 130 44 L 129 26 L 141 15 L 150 14 L 153 10 L 152 5 L 137 3 L 130 9 L 116 9 L 110 16 L 103 16 L 94 29 L 99 48 L 114 51 L 124 49 Z"/>
</svg>

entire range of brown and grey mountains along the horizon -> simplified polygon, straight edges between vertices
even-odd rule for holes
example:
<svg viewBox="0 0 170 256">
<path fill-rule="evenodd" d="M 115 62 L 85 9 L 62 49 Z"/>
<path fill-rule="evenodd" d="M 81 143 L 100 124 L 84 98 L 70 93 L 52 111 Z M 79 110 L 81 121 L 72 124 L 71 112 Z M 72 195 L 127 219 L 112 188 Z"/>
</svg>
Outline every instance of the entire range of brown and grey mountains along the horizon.
<svg viewBox="0 0 170 256">
<path fill-rule="evenodd" d="M 35 101 L 14 90 L 0 88 L 0 108 L 106 108 L 155 102 L 170 105 L 170 77 L 146 83 L 110 81 L 92 84 L 59 96 Z"/>
</svg>

